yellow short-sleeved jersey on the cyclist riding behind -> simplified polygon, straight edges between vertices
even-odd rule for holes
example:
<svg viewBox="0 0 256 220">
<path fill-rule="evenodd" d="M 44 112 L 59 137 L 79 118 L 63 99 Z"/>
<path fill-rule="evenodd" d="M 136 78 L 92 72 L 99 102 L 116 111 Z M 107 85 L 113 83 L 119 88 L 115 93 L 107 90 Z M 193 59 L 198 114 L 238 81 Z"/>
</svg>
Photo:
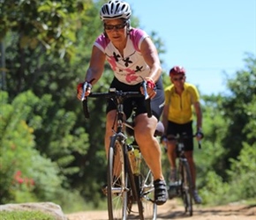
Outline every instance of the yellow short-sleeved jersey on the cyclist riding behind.
<svg viewBox="0 0 256 220">
<path fill-rule="evenodd" d="M 165 90 L 165 105 L 169 106 L 168 121 L 184 124 L 192 121 L 192 105 L 200 101 L 200 94 L 193 84 L 184 83 L 181 96 L 175 92 L 173 84 Z"/>
</svg>

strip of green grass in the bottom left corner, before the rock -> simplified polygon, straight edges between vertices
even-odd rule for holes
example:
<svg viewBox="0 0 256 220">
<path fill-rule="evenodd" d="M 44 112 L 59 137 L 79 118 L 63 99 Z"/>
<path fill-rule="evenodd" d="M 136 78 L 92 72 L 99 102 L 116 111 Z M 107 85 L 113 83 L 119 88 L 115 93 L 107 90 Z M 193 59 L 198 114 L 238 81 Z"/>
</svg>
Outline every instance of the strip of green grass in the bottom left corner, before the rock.
<svg viewBox="0 0 256 220">
<path fill-rule="evenodd" d="M 55 220 L 54 216 L 49 214 L 42 213 L 41 211 L 1 211 L 0 212 L 1 220 Z"/>
</svg>

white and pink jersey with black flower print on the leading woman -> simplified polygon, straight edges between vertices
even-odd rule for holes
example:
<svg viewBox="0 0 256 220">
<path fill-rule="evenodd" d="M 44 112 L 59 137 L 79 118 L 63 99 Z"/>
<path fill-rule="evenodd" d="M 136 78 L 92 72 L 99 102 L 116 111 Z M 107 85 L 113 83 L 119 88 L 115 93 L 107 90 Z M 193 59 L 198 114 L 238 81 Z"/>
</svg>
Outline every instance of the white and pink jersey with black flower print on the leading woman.
<svg viewBox="0 0 256 220">
<path fill-rule="evenodd" d="M 149 66 L 140 53 L 141 42 L 147 37 L 144 31 L 132 28 L 124 48 L 124 57 L 103 33 L 95 40 L 94 46 L 106 55 L 106 60 L 120 82 L 139 84 L 142 82 L 141 77 L 145 78 L 149 73 Z"/>
</svg>

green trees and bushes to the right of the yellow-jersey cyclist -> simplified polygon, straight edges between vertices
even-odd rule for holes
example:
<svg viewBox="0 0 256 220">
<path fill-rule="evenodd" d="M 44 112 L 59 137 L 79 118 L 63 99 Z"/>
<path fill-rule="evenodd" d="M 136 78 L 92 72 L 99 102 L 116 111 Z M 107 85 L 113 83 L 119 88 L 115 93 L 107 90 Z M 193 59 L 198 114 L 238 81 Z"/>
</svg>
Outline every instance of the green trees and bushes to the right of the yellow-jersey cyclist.
<svg viewBox="0 0 256 220">
<path fill-rule="evenodd" d="M 206 203 L 255 199 L 256 59 L 227 81 L 226 96 L 204 96 L 203 150 L 196 150 L 198 186 Z M 229 194 L 229 196 L 227 196 Z"/>
</svg>

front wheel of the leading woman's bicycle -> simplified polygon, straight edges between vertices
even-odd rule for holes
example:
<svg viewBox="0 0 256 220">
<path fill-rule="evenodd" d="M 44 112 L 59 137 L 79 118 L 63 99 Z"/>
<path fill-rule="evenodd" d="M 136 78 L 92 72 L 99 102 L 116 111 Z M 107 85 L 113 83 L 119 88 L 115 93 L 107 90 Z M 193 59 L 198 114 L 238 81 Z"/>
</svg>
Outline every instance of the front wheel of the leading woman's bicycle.
<svg viewBox="0 0 256 220">
<path fill-rule="evenodd" d="M 108 158 L 108 211 L 109 220 L 127 217 L 127 172 L 124 169 L 124 149 L 118 136 L 112 136 Z"/>
</svg>

